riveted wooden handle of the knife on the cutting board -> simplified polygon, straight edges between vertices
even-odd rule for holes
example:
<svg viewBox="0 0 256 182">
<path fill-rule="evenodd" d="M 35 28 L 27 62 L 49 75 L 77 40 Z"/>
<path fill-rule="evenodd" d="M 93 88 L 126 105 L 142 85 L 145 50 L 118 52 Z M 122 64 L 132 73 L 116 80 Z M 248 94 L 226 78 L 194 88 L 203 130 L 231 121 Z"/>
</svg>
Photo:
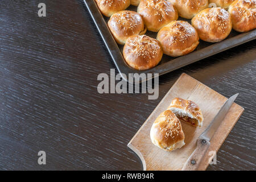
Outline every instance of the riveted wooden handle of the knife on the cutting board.
<svg viewBox="0 0 256 182">
<path fill-rule="evenodd" d="M 205 139 L 196 140 L 196 149 L 185 162 L 182 171 L 196 171 L 199 168 L 200 162 L 203 159 L 205 152 L 208 150 L 210 142 Z"/>
</svg>

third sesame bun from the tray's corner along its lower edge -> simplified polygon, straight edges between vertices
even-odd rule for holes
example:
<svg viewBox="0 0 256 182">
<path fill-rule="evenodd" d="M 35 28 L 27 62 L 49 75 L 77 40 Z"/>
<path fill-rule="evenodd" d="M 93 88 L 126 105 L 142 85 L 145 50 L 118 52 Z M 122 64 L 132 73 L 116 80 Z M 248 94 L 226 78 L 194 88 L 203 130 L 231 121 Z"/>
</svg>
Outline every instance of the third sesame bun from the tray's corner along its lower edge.
<svg viewBox="0 0 256 182">
<path fill-rule="evenodd" d="M 200 11 L 192 20 L 199 38 L 206 42 L 220 42 L 232 30 L 229 13 L 221 7 L 212 7 Z"/>
</svg>

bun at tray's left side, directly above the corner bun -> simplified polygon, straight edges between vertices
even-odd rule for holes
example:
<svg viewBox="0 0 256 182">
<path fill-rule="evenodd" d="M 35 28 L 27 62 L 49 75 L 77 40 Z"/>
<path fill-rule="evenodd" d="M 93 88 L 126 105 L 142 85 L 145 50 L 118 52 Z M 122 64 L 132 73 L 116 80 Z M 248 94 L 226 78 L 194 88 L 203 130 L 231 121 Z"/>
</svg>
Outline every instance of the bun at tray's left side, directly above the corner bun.
<svg viewBox="0 0 256 182">
<path fill-rule="evenodd" d="M 146 32 L 141 15 L 135 11 L 119 11 L 114 13 L 108 22 L 112 35 L 118 44 L 125 44 L 132 35 L 143 35 Z"/>
</svg>

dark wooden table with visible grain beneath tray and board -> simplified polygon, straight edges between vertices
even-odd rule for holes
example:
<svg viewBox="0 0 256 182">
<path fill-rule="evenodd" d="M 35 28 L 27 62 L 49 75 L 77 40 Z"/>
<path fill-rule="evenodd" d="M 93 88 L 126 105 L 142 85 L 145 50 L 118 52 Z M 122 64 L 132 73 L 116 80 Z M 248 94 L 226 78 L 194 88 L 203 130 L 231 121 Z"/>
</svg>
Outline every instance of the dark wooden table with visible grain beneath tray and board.
<svg viewBox="0 0 256 182">
<path fill-rule="evenodd" d="M 0 30 L 0 169 L 142 169 L 127 143 L 183 72 L 245 108 L 208 170 L 256 169 L 255 41 L 160 76 L 148 100 L 97 92 L 115 66 L 82 1 L 2 0 Z"/>
</svg>

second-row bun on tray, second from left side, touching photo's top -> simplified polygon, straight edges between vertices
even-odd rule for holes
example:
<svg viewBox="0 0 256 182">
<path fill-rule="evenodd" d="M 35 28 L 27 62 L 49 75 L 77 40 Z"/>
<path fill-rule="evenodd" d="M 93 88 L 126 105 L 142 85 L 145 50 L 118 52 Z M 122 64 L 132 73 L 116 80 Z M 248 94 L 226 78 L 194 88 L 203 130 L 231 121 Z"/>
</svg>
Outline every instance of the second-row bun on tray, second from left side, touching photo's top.
<svg viewBox="0 0 256 182">
<path fill-rule="evenodd" d="M 138 6 L 147 30 L 158 32 L 172 20 L 177 20 L 177 10 L 166 0 L 141 0 Z"/>
</svg>

